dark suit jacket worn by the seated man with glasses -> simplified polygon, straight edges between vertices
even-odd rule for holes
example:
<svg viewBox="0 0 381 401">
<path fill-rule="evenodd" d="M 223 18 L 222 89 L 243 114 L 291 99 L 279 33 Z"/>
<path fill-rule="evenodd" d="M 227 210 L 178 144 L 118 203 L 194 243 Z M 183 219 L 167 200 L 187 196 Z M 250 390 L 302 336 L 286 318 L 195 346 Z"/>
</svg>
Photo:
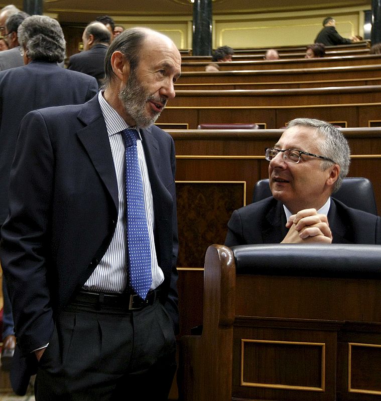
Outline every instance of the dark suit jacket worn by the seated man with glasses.
<svg viewBox="0 0 381 401">
<path fill-rule="evenodd" d="M 381 244 L 381 218 L 331 198 L 328 223 L 334 244 Z M 270 196 L 233 212 L 225 245 L 279 244 L 287 234 L 283 204 Z"/>
</svg>

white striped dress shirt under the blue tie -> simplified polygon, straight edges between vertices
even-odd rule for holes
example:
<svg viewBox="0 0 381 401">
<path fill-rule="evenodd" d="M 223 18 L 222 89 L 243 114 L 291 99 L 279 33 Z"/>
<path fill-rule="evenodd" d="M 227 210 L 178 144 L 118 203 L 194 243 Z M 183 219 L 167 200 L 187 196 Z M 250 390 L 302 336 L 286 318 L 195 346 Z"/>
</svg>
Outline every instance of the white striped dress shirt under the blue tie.
<svg viewBox="0 0 381 401">
<path fill-rule="evenodd" d="M 111 243 L 83 288 L 88 291 L 121 293 L 129 288 L 128 259 L 126 255 L 126 223 L 125 223 L 125 180 L 124 180 L 124 141 L 120 131 L 129 127 L 121 116 L 106 102 L 103 91 L 98 95 L 99 105 L 106 123 L 114 161 L 116 181 L 118 185 L 118 218 Z M 139 131 L 139 130 L 138 130 Z M 158 265 L 154 241 L 154 207 L 147 163 L 144 155 L 142 137 L 137 140 L 139 167 L 142 174 L 144 203 L 151 248 L 151 289 L 157 288 L 164 281 L 164 274 Z"/>
</svg>

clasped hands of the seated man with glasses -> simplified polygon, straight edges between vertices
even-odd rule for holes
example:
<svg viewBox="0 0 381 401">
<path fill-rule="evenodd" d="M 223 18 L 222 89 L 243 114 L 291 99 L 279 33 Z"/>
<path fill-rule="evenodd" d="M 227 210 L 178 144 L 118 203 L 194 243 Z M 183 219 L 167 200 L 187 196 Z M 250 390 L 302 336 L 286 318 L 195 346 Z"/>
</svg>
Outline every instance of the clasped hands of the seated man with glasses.
<svg viewBox="0 0 381 401">
<path fill-rule="evenodd" d="M 332 242 L 327 216 L 318 215 L 316 209 L 304 209 L 290 216 L 286 227 L 289 232 L 281 244 L 331 244 Z"/>
</svg>

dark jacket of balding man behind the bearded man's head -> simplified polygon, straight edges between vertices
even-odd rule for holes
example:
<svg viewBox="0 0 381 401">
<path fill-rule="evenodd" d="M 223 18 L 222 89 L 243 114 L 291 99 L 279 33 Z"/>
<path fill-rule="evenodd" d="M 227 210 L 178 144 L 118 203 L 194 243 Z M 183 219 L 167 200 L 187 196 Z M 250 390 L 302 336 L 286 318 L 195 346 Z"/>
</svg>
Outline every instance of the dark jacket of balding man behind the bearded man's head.
<svg viewBox="0 0 381 401">
<path fill-rule="evenodd" d="M 73 54 L 69 58 L 68 70 L 83 72 L 96 78 L 98 85 L 102 84 L 104 78 L 104 58 L 107 53 L 107 46 L 94 45 L 90 50 Z"/>
</svg>

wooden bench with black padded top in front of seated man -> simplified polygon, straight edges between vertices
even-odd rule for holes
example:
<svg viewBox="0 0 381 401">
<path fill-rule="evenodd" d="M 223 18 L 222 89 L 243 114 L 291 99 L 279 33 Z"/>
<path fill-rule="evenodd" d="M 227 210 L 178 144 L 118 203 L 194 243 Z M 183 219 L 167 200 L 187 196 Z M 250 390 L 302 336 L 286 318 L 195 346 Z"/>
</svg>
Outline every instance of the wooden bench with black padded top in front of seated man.
<svg viewBox="0 0 381 401">
<path fill-rule="evenodd" d="M 210 246 L 179 399 L 379 399 L 380 265 L 379 245 Z"/>
</svg>

